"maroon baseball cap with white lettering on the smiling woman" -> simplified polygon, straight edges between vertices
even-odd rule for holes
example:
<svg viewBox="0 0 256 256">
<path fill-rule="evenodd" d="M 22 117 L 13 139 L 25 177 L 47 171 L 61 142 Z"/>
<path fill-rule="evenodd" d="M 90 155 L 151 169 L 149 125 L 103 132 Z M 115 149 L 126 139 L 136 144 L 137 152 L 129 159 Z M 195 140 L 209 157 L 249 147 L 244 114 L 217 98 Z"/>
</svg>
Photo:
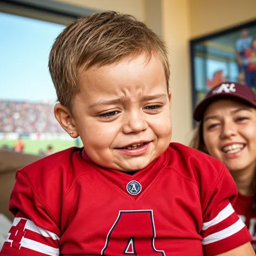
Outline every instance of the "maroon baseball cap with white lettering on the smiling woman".
<svg viewBox="0 0 256 256">
<path fill-rule="evenodd" d="M 223 98 L 233 98 L 244 101 L 245 104 L 256 108 L 256 94 L 247 85 L 241 85 L 237 82 L 222 82 L 215 86 L 206 97 L 196 106 L 193 118 L 201 121 L 206 108 L 215 100 Z"/>
</svg>

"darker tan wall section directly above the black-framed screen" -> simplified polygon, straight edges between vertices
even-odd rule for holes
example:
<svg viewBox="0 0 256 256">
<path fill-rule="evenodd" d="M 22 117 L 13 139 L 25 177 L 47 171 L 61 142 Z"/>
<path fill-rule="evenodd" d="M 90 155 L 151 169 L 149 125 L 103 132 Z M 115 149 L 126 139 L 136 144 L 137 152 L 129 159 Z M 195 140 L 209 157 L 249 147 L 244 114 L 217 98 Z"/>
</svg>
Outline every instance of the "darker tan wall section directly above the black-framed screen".
<svg viewBox="0 0 256 256">
<path fill-rule="evenodd" d="M 255 0 L 190 0 L 190 37 L 256 19 Z"/>
</svg>

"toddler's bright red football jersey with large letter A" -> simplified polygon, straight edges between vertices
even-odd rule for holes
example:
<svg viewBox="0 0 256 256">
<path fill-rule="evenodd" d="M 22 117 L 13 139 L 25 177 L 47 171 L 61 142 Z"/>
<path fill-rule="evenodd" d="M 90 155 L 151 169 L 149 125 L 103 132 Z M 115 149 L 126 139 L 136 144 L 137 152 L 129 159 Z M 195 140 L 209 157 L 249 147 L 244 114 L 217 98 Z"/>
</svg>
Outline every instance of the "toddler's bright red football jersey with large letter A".
<svg viewBox="0 0 256 256">
<path fill-rule="evenodd" d="M 1 256 L 210 256 L 251 241 L 216 159 L 178 143 L 129 175 L 64 150 L 18 170 Z"/>
</svg>

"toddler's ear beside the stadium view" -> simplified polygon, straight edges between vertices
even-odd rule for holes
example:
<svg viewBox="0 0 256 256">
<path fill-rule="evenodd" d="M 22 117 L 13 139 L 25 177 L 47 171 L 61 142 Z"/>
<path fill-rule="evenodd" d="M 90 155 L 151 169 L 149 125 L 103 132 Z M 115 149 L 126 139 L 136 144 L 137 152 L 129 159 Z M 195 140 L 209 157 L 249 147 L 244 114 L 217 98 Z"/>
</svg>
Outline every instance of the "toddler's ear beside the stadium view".
<svg viewBox="0 0 256 256">
<path fill-rule="evenodd" d="M 77 138 L 78 132 L 76 131 L 75 122 L 71 112 L 60 103 L 54 106 L 54 116 L 60 123 L 62 128 L 72 137 Z"/>
</svg>

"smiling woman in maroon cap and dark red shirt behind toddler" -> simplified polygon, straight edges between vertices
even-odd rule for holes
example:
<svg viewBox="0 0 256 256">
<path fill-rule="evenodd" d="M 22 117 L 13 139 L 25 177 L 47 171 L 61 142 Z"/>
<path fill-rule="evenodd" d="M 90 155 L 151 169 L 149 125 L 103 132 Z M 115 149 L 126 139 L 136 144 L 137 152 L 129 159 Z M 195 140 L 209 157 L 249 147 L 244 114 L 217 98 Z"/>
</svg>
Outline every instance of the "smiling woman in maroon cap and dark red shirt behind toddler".
<svg viewBox="0 0 256 256">
<path fill-rule="evenodd" d="M 234 209 L 246 223 L 256 251 L 256 95 L 247 86 L 223 83 L 197 105 L 191 146 L 224 163 L 238 188 Z"/>
</svg>

